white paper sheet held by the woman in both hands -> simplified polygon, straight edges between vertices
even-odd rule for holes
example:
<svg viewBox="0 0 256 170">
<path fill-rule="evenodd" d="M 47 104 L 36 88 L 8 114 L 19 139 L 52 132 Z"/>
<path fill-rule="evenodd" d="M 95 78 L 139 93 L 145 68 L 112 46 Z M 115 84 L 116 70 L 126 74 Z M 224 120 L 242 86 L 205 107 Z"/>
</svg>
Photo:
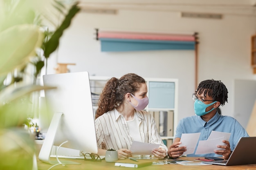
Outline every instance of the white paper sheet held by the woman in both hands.
<svg viewBox="0 0 256 170">
<path fill-rule="evenodd" d="M 153 155 L 152 150 L 159 148 L 160 144 L 148 144 L 139 141 L 133 141 L 130 147 L 132 155 Z"/>
</svg>

